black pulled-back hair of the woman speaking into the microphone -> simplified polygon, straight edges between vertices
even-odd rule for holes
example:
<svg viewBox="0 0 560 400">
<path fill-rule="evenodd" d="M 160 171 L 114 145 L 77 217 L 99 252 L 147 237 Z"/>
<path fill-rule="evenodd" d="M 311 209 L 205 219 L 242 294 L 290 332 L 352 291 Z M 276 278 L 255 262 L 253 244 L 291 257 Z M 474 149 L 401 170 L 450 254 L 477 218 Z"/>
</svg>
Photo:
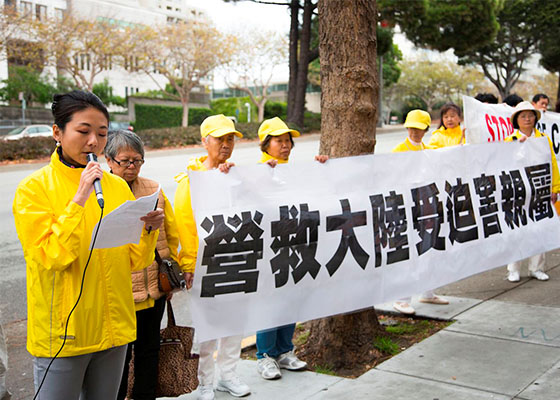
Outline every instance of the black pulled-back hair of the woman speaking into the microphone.
<svg viewBox="0 0 560 400">
<path fill-rule="evenodd" d="M 93 107 L 103 113 L 109 122 L 109 112 L 105 104 L 91 92 L 73 90 L 68 93 L 55 94 L 51 106 L 54 123 L 61 131 L 64 131 L 66 124 L 72 120 L 72 116 L 78 111 L 83 111 Z"/>
</svg>

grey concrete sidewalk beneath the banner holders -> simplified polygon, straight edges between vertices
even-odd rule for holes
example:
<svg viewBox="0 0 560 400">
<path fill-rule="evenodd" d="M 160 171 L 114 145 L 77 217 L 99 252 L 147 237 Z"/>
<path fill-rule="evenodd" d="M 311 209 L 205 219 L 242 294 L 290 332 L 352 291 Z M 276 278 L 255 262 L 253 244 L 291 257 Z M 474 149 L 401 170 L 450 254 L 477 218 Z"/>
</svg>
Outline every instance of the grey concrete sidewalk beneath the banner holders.
<svg viewBox="0 0 560 400">
<path fill-rule="evenodd" d="M 548 253 L 547 282 L 510 283 L 501 267 L 440 288 L 448 306 L 413 300 L 417 315 L 456 322 L 357 379 L 283 370 L 282 379 L 265 381 L 255 361 L 243 360 L 248 399 L 558 400 L 559 264 L 560 250 Z M 376 308 L 392 312 L 390 303 Z M 216 392 L 216 399 L 234 397 Z"/>
</svg>

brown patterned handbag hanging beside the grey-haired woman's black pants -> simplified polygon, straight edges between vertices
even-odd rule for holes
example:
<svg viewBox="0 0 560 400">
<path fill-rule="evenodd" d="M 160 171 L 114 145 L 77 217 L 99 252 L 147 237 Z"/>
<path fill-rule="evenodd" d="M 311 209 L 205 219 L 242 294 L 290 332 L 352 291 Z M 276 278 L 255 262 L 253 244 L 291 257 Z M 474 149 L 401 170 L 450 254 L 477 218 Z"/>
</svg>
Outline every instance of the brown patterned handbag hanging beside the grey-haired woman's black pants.
<svg viewBox="0 0 560 400">
<path fill-rule="evenodd" d="M 156 397 L 178 397 L 198 387 L 198 354 L 191 354 L 194 328 L 177 326 L 171 302 L 167 300 L 167 328 L 160 331 Z M 128 393 L 134 385 L 134 353 L 128 373 Z"/>
</svg>

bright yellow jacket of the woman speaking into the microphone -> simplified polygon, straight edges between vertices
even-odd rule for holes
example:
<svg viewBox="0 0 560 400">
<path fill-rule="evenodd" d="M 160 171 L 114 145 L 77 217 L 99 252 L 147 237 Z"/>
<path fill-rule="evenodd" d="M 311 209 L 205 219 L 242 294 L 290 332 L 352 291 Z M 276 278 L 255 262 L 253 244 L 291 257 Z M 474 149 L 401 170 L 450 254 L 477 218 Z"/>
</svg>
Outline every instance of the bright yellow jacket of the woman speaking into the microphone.
<svg viewBox="0 0 560 400">
<path fill-rule="evenodd" d="M 35 357 L 53 357 L 62 344 L 66 319 L 80 292 L 92 231 L 99 221 L 95 193 L 85 207 L 72 201 L 82 171 L 64 165 L 55 151 L 50 164 L 21 181 L 16 190 L 13 212 L 27 264 L 27 349 Z M 134 200 L 126 182 L 117 176 L 103 173 L 101 185 L 104 215 Z M 130 271 L 153 261 L 157 233 L 148 235 L 143 230 L 138 245 L 93 250 L 60 357 L 135 340 Z"/>
</svg>

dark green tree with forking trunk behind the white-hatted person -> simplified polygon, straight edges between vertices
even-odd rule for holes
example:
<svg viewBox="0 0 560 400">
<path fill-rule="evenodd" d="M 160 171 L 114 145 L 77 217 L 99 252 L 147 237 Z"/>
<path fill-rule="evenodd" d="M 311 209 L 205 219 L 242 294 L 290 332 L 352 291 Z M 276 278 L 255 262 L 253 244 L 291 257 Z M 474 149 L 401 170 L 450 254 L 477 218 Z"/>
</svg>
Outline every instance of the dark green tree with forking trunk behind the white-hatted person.
<svg viewBox="0 0 560 400">
<path fill-rule="evenodd" d="M 459 62 L 480 66 L 504 98 L 512 92 L 527 59 L 537 52 L 539 41 L 550 34 L 551 40 L 557 42 L 557 36 L 548 32 L 547 27 L 557 26 L 558 19 L 560 7 L 557 2 L 505 0 L 497 15 L 500 29 L 496 40 L 462 52 Z M 543 51 L 546 52 L 547 47 L 552 48 L 544 45 Z"/>
</svg>

